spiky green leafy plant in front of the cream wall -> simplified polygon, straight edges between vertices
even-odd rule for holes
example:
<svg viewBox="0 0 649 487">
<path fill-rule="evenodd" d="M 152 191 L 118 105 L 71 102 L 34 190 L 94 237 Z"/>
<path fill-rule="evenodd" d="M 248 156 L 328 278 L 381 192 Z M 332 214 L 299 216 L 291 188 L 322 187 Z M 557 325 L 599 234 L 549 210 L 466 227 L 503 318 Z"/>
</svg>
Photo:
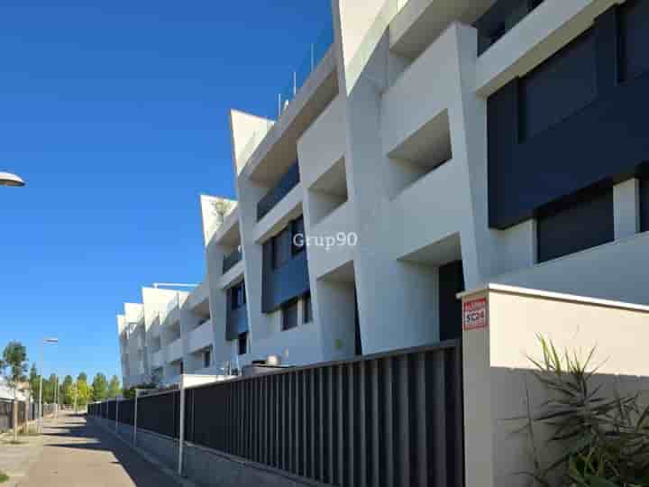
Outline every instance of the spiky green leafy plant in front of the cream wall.
<svg viewBox="0 0 649 487">
<path fill-rule="evenodd" d="M 538 339 L 543 359 L 530 361 L 551 399 L 529 411 L 526 429 L 532 433 L 534 423 L 551 427 L 549 442 L 558 443 L 562 455 L 544 468 L 535 461 L 535 480 L 549 486 L 550 473 L 561 469 L 566 487 L 649 486 L 649 406 L 640 406 L 638 393 L 601 394 L 602 384 L 592 384 L 599 369 L 591 367 L 595 348 L 580 360 Z"/>
</svg>

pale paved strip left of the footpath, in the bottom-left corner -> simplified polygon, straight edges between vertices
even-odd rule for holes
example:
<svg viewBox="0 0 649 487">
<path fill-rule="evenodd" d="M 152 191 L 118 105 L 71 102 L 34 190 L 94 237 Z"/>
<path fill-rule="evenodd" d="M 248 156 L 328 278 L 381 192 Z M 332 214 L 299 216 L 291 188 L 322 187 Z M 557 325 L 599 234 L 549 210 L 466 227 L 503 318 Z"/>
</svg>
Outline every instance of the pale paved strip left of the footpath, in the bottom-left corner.
<svg viewBox="0 0 649 487">
<path fill-rule="evenodd" d="M 43 426 L 52 424 L 56 424 L 54 418 L 45 418 Z M 9 481 L 0 484 L 2 487 L 19 485 L 42 455 L 43 436 L 18 436 L 20 445 L 12 445 L 13 440 L 13 432 L 0 435 L 0 472 L 9 475 Z"/>
</svg>

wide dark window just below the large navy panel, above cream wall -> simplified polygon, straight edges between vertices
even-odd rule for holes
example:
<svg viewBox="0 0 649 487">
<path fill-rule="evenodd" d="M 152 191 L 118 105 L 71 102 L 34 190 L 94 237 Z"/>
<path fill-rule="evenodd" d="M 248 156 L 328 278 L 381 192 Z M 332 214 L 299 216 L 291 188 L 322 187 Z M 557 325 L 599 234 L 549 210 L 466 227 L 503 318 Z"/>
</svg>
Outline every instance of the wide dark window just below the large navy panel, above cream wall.
<svg viewBox="0 0 649 487">
<path fill-rule="evenodd" d="M 572 199 L 538 216 L 538 262 L 612 242 L 614 232 L 612 188 Z"/>
</svg>

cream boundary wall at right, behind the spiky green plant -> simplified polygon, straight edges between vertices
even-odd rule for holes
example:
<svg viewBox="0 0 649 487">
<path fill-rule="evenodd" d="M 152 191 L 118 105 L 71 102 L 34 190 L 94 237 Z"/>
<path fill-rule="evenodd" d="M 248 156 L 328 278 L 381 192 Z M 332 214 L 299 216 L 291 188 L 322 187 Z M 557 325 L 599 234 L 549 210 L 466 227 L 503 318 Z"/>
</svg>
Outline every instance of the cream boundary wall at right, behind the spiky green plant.
<svg viewBox="0 0 649 487">
<path fill-rule="evenodd" d="M 467 485 L 524 487 L 532 472 L 529 436 L 515 434 L 529 408 L 538 410 L 549 392 L 529 373 L 542 351 L 537 335 L 583 360 L 597 347 L 593 387 L 599 395 L 642 392 L 649 399 L 649 307 L 490 285 L 466 293 L 463 302 L 487 299 L 487 327 L 463 332 L 464 417 Z M 529 395 L 529 402 L 527 396 Z M 538 460 L 547 466 L 558 451 L 544 445 L 551 431 L 535 425 Z"/>
</svg>

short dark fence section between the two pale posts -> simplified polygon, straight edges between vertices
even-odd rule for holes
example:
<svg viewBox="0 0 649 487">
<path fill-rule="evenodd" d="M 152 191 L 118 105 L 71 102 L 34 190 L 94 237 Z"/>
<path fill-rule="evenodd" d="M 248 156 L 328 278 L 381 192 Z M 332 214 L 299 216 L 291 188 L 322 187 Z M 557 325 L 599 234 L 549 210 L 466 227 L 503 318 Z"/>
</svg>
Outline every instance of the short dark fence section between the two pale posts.
<svg viewBox="0 0 649 487">
<path fill-rule="evenodd" d="M 179 402 L 179 391 L 138 398 L 138 427 L 177 438 Z"/>
</svg>

